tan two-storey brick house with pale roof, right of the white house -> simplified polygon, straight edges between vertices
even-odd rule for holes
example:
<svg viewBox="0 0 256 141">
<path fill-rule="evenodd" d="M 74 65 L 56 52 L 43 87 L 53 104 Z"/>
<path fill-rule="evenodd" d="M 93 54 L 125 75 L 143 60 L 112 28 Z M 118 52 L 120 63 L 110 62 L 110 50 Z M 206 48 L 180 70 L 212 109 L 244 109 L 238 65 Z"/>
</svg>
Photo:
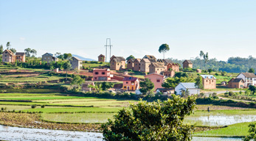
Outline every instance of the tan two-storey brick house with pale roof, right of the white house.
<svg viewBox="0 0 256 141">
<path fill-rule="evenodd" d="M 216 78 L 212 75 L 201 75 L 204 89 L 216 89 Z"/>
</svg>

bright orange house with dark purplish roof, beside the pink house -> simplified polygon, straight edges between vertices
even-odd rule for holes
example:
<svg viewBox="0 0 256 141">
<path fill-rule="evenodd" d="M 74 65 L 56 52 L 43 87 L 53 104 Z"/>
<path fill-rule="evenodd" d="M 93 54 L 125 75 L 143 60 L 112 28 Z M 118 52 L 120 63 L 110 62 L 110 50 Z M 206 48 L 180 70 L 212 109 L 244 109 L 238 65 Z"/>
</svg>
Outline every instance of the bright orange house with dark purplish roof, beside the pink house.
<svg viewBox="0 0 256 141">
<path fill-rule="evenodd" d="M 122 90 L 139 90 L 139 79 L 136 77 L 125 77 L 122 80 Z"/>
</svg>

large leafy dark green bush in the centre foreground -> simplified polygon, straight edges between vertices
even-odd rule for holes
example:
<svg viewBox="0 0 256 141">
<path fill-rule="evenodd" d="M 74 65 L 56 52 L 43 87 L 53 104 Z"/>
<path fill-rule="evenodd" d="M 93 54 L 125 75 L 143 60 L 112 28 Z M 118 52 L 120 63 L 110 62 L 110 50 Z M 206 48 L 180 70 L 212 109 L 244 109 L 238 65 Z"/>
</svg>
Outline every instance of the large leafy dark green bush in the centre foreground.
<svg viewBox="0 0 256 141">
<path fill-rule="evenodd" d="M 192 140 L 193 126 L 183 124 L 184 117 L 191 115 L 196 98 L 187 99 L 172 95 L 167 101 L 139 101 L 130 109 L 121 109 L 114 121 L 102 125 L 103 140 Z"/>
</svg>

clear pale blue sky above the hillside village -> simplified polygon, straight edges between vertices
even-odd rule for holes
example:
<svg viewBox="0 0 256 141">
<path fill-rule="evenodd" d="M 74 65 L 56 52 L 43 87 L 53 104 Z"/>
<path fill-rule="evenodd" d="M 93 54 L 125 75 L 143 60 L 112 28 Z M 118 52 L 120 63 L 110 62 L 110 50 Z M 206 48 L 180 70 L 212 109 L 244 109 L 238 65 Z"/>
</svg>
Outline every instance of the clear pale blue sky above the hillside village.
<svg viewBox="0 0 256 141">
<path fill-rule="evenodd" d="M 166 57 L 256 57 L 255 0 L 0 0 L 0 44 L 97 59 L 110 37 L 112 54 L 140 58 L 170 46 Z"/>
</svg>

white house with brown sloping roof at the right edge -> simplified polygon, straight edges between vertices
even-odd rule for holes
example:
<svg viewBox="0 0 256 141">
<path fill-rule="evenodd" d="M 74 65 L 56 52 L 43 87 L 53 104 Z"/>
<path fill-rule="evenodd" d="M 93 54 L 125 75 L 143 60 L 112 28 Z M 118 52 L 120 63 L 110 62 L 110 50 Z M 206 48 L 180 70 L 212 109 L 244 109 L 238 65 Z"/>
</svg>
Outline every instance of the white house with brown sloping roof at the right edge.
<svg viewBox="0 0 256 141">
<path fill-rule="evenodd" d="M 243 79 L 244 87 L 249 87 L 249 85 L 256 86 L 256 76 L 254 73 L 240 73 L 236 78 Z"/>
</svg>

